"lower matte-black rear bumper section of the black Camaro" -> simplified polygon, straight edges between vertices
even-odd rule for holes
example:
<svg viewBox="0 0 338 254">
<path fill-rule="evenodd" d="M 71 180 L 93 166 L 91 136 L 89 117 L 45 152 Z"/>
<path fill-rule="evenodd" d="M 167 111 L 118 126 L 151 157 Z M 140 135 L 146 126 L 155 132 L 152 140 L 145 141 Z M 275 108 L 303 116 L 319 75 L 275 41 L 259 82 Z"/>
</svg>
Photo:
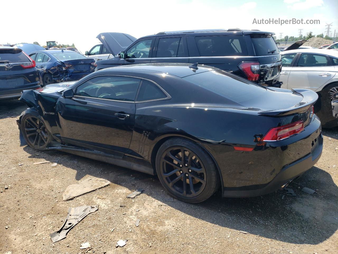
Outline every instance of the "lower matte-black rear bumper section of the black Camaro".
<svg viewBox="0 0 338 254">
<path fill-rule="evenodd" d="M 224 190 L 223 197 L 254 197 L 261 196 L 274 192 L 288 182 L 292 181 L 297 176 L 302 175 L 317 163 L 323 149 L 323 136 L 320 134 L 317 137 L 317 144 L 313 146 L 311 152 L 298 160 L 285 165 L 282 170 L 262 188 L 253 190 Z"/>
</svg>

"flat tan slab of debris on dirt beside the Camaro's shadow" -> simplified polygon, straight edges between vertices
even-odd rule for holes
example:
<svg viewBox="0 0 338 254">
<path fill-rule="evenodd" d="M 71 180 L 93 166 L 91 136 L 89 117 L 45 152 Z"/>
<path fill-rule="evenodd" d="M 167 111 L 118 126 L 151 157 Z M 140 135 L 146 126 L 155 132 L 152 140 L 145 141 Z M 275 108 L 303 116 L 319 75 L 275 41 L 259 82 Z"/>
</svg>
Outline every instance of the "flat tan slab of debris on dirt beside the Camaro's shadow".
<svg viewBox="0 0 338 254">
<path fill-rule="evenodd" d="M 64 201 L 71 200 L 74 197 L 81 196 L 84 193 L 100 189 L 110 184 L 111 182 L 109 182 L 108 180 L 96 177 L 86 179 L 80 184 L 71 184 L 67 187 L 67 189 L 63 193 L 63 200 Z"/>
</svg>

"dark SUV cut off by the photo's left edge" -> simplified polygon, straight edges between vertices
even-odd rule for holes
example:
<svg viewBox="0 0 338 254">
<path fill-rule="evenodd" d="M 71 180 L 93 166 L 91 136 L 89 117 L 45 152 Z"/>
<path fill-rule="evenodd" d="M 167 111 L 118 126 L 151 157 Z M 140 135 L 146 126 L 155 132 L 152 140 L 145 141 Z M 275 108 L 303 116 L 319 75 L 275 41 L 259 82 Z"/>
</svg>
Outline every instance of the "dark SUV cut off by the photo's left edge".
<svg viewBox="0 0 338 254">
<path fill-rule="evenodd" d="M 0 100 L 19 98 L 22 90 L 41 88 L 35 61 L 20 48 L 0 46 Z"/>
</svg>

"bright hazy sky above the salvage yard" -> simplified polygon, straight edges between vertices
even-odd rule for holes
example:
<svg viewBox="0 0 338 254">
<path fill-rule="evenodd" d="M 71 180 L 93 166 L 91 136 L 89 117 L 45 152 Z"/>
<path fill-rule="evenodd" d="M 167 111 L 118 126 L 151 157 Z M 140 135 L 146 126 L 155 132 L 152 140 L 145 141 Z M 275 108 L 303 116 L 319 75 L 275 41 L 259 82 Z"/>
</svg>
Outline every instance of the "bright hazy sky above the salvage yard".
<svg viewBox="0 0 338 254">
<path fill-rule="evenodd" d="M 0 43 L 46 41 L 72 44 L 84 53 L 99 43 L 103 32 L 120 32 L 136 38 L 160 31 L 240 28 L 273 32 L 279 38 L 309 31 L 325 32 L 333 23 L 338 33 L 338 0 L 16 0 L 1 3 Z M 320 24 L 253 24 L 254 19 L 317 19 Z M 325 35 L 325 33 L 324 33 Z"/>
</svg>

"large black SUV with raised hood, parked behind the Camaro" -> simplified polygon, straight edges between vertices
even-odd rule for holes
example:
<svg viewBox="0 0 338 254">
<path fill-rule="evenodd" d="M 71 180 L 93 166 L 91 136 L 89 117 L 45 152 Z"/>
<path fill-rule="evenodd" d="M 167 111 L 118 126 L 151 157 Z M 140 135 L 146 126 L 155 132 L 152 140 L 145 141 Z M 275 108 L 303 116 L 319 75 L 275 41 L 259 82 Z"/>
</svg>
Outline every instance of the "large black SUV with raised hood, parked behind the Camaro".
<svg viewBox="0 0 338 254">
<path fill-rule="evenodd" d="M 137 40 L 123 33 L 101 33 L 97 38 L 112 57 L 96 61 L 96 70 L 126 64 L 197 62 L 280 87 L 282 61 L 273 35 L 238 28 L 161 32 Z"/>
</svg>

